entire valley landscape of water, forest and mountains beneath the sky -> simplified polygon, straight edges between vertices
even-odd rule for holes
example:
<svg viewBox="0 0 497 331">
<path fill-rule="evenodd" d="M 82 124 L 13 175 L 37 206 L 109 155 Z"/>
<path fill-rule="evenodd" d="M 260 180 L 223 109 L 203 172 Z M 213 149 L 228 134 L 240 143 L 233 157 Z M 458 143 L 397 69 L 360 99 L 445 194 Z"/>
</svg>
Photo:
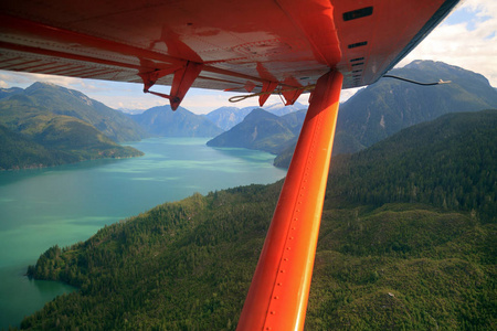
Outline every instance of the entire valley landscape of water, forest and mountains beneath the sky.
<svg viewBox="0 0 497 331">
<path fill-rule="evenodd" d="M 452 83 L 382 78 L 340 106 L 306 330 L 491 329 L 497 90 L 444 63 L 392 73 Z M 66 291 L 12 323 L 234 330 L 305 114 L 2 89 L 0 273 Z"/>
</svg>

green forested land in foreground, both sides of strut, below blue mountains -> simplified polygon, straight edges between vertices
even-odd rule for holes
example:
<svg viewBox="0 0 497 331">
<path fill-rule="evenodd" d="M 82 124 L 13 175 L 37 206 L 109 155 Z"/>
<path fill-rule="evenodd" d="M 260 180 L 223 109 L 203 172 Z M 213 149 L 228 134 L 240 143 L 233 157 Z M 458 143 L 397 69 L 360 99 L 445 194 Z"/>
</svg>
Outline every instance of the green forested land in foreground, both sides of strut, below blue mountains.
<svg viewBox="0 0 497 331">
<path fill-rule="evenodd" d="M 306 330 L 491 330 L 497 111 L 420 125 L 328 182 Z M 281 182 L 167 203 L 50 248 L 29 274 L 81 288 L 22 329 L 234 330 Z"/>
</svg>

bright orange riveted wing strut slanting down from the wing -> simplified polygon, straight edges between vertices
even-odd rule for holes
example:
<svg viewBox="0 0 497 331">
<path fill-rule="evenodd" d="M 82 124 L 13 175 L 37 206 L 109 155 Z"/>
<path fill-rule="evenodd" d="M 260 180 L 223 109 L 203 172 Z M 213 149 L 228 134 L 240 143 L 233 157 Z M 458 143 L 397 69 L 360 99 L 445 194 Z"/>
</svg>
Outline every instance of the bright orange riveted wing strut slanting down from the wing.
<svg viewBox="0 0 497 331">
<path fill-rule="evenodd" d="M 317 82 L 239 331 L 304 329 L 342 81 Z"/>
</svg>

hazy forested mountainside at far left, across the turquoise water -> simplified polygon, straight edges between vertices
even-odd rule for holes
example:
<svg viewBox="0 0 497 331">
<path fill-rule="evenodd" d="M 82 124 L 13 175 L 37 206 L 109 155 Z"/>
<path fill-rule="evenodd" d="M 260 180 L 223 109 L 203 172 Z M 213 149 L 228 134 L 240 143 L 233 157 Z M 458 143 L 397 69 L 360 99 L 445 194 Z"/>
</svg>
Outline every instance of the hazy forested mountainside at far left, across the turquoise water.
<svg viewBox="0 0 497 331">
<path fill-rule="evenodd" d="M 0 170 L 137 157 L 142 153 L 116 141 L 147 137 L 119 111 L 80 92 L 43 83 L 2 89 L 0 126 Z"/>
</svg>

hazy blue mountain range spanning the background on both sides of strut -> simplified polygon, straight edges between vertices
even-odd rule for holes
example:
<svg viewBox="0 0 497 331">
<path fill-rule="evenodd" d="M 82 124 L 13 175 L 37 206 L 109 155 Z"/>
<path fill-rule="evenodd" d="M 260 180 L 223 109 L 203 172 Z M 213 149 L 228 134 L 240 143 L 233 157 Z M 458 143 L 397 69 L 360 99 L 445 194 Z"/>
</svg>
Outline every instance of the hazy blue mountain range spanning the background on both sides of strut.
<svg viewBox="0 0 497 331">
<path fill-rule="evenodd" d="M 359 90 L 340 105 L 335 154 L 359 151 L 402 128 L 443 114 L 497 108 L 497 90 L 488 81 L 461 67 L 414 61 L 389 74 L 422 82 L 443 79 L 451 83 L 426 87 L 382 78 Z M 305 109 L 306 106 L 297 103 L 255 110 L 253 107 L 222 107 L 207 115 L 195 115 L 181 107 L 172 111 L 169 106 L 161 106 L 141 114 L 124 115 L 80 92 L 51 84 L 0 89 L 0 125 L 6 141 L 0 150 L 6 161 L 0 168 L 21 169 L 99 157 L 125 157 L 129 151 L 119 154 L 118 150 L 124 150 L 115 142 L 148 136 L 215 137 L 209 146 L 268 151 L 278 154 L 275 166 L 287 167 Z M 72 147 L 67 141 L 72 141 Z M 30 161 L 15 161 L 22 159 Z"/>
</svg>

